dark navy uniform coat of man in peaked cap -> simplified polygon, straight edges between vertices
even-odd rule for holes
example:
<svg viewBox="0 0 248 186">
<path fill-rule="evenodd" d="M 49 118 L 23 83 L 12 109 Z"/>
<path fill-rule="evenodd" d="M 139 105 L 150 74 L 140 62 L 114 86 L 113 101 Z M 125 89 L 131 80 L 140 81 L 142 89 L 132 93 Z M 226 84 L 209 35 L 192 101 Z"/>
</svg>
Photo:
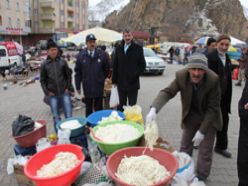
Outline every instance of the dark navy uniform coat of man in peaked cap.
<svg viewBox="0 0 248 186">
<path fill-rule="evenodd" d="M 77 55 L 75 66 L 76 89 L 81 89 L 83 84 L 86 98 L 103 97 L 105 78 L 109 73 L 110 62 L 105 52 L 95 49 L 92 58 L 87 49 Z"/>
</svg>

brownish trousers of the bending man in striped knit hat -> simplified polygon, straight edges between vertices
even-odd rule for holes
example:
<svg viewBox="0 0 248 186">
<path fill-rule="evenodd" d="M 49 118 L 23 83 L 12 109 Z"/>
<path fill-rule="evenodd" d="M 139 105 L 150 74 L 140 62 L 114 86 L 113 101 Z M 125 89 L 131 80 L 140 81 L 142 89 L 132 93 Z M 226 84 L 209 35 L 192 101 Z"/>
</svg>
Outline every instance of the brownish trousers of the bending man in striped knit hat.
<svg viewBox="0 0 248 186">
<path fill-rule="evenodd" d="M 181 152 L 185 152 L 192 156 L 193 142 L 197 130 L 199 130 L 201 123 L 197 122 L 199 118 L 196 116 L 188 117 L 183 129 L 181 140 Z M 202 121 L 202 119 L 200 120 Z M 205 137 L 199 145 L 199 152 L 196 165 L 196 174 L 199 178 L 205 180 L 210 174 L 212 159 L 213 159 L 213 146 L 216 135 L 216 129 L 209 127 L 206 131 Z"/>
</svg>

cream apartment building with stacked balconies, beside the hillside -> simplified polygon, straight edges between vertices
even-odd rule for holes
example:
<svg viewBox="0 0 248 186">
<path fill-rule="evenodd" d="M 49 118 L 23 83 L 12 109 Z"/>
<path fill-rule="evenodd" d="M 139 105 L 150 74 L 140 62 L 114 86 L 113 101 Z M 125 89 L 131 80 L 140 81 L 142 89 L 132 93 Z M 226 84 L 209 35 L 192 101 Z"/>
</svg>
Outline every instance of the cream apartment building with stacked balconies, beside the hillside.
<svg viewBox="0 0 248 186">
<path fill-rule="evenodd" d="M 88 28 L 88 0 L 29 0 L 31 34 L 25 43 L 53 37 L 59 40 L 68 33 Z M 30 40 L 30 38 L 32 38 Z"/>
</svg>

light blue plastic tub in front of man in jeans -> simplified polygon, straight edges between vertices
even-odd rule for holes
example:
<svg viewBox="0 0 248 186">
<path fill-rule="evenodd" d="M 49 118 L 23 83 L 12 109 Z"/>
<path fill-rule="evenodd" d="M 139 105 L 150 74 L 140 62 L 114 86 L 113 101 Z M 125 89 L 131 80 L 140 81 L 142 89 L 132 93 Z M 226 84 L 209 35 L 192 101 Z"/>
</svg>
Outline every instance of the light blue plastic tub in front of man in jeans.
<svg viewBox="0 0 248 186">
<path fill-rule="evenodd" d="M 60 128 L 60 125 L 66 121 L 71 121 L 71 120 L 78 120 L 78 122 L 82 125 L 81 127 L 77 128 L 77 129 L 73 129 L 71 130 L 71 136 L 70 137 L 76 137 L 76 136 L 80 136 L 83 134 L 84 132 L 84 126 L 87 123 L 86 118 L 83 117 L 71 117 L 71 118 L 67 118 L 64 120 L 61 120 L 58 124 L 57 124 L 57 128 Z"/>
</svg>

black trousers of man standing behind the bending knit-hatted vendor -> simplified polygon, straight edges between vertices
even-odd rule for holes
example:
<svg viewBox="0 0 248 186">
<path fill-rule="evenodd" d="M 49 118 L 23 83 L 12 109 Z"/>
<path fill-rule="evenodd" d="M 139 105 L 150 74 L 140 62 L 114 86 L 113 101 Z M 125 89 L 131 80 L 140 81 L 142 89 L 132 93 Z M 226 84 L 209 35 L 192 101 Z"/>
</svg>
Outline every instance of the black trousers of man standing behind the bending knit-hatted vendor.
<svg viewBox="0 0 248 186">
<path fill-rule="evenodd" d="M 221 129 L 221 131 L 218 131 L 216 135 L 215 148 L 220 150 L 226 150 L 228 144 L 227 130 L 229 123 L 229 113 L 226 108 L 227 106 L 224 104 L 221 106 L 223 128 Z"/>
</svg>

